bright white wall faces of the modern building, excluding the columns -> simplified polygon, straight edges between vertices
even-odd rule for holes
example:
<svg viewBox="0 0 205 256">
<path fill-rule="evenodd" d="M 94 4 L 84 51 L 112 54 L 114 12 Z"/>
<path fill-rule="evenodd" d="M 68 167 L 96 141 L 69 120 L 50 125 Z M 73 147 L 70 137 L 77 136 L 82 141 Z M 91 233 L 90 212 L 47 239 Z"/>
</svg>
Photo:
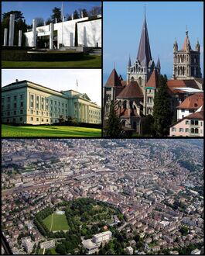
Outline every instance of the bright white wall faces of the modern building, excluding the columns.
<svg viewBox="0 0 205 256">
<path fill-rule="evenodd" d="M 66 22 L 55 23 L 54 34 L 57 32 L 57 47 L 74 47 L 75 24 L 77 23 L 78 45 L 84 47 L 101 47 L 101 18 L 89 20 L 86 18 L 73 19 Z M 63 31 L 63 33 L 62 33 Z M 50 25 L 36 28 L 37 36 L 50 36 Z M 26 46 L 32 47 L 33 33 L 26 32 Z M 54 36 L 55 37 L 55 36 Z"/>
</svg>

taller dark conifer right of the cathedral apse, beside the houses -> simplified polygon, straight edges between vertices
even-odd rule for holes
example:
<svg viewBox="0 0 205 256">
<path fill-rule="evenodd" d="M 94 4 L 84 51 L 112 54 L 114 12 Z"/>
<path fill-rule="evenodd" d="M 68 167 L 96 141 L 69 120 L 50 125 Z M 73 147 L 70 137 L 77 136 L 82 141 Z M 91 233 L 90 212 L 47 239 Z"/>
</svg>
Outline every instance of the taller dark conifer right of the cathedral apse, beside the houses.
<svg viewBox="0 0 205 256">
<path fill-rule="evenodd" d="M 169 134 L 169 125 L 172 121 L 172 111 L 170 105 L 170 96 L 167 88 L 166 76 L 159 76 L 159 89 L 154 99 L 154 126 L 157 136 L 167 136 Z"/>
</svg>

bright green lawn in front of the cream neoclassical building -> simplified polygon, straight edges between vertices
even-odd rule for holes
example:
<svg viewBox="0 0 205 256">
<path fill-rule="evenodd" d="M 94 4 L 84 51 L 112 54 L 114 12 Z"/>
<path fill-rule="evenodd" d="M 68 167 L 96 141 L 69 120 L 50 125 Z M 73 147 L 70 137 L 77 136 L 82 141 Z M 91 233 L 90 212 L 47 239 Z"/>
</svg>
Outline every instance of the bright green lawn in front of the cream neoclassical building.
<svg viewBox="0 0 205 256">
<path fill-rule="evenodd" d="M 78 126 L 2 125 L 2 137 L 101 137 L 101 129 Z"/>
</svg>

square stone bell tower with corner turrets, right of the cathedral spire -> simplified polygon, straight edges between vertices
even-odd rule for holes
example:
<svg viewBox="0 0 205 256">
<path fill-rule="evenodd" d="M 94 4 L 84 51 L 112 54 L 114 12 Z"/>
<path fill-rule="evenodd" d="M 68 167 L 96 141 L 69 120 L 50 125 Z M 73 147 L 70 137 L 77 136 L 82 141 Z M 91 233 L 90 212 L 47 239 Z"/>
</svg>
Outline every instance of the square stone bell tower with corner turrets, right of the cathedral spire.
<svg viewBox="0 0 205 256">
<path fill-rule="evenodd" d="M 173 78 L 190 79 L 201 77 L 200 43 L 197 40 L 195 50 L 192 50 L 188 31 L 186 29 L 186 37 L 183 43 L 183 48 L 178 50 L 176 40 L 173 45 Z"/>
</svg>

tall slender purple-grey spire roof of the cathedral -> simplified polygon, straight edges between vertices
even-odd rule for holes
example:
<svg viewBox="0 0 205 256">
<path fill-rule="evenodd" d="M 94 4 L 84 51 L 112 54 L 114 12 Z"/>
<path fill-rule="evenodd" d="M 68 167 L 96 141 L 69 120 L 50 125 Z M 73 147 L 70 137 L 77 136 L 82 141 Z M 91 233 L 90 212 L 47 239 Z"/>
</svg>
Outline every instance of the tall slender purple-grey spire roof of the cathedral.
<svg viewBox="0 0 205 256">
<path fill-rule="evenodd" d="M 145 67 L 147 67 L 149 64 L 149 61 L 152 60 L 151 50 L 149 46 L 149 35 L 148 35 L 146 17 L 145 17 L 144 24 L 142 26 L 142 33 L 141 33 L 141 38 L 140 38 L 139 47 L 138 47 L 137 60 L 140 62 L 142 66 L 145 66 Z"/>
</svg>

